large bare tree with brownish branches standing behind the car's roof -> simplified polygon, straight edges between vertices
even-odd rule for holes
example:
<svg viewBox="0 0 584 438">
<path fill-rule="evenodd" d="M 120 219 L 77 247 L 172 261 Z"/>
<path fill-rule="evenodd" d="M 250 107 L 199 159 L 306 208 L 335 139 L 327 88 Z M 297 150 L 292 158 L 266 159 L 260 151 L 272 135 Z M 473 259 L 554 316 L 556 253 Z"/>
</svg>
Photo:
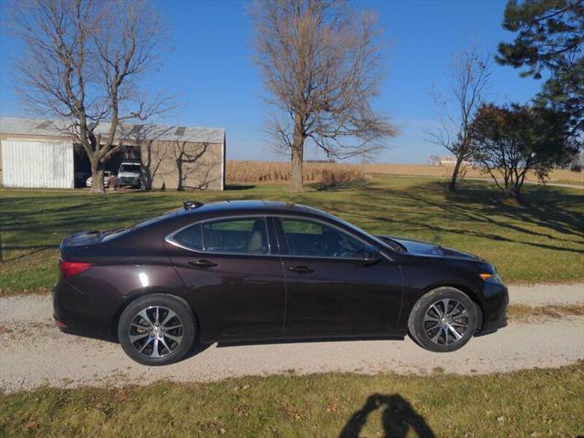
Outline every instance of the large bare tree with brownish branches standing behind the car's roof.
<svg viewBox="0 0 584 438">
<path fill-rule="evenodd" d="M 251 15 L 255 62 L 274 108 L 267 130 L 291 158 L 293 192 L 303 188 L 308 139 L 343 159 L 396 134 L 371 107 L 383 77 L 375 16 L 334 0 L 255 0 Z"/>
</svg>

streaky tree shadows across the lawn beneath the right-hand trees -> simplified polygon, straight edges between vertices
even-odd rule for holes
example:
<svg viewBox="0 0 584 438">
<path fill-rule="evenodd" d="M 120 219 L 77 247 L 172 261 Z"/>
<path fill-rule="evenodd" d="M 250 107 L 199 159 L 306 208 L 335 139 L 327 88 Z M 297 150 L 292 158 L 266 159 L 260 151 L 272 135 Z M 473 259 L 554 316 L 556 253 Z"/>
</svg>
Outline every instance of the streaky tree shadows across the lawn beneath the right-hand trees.
<svg viewBox="0 0 584 438">
<path fill-rule="evenodd" d="M 405 214 L 403 208 L 401 214 L 391 214 L 393 204 L 411 208 Z M 433 181 L 401 190 L 387 190 L 385 187 L 370 184 L 348 208 L 339 208 L 337 203 L 334 209 L 339 214 L 351 214 L 375 224 L 388 224 L 389 228 L 398 225 L 404 230 L 432 231 L 437 235 L 468 235 L 583 254 L 584 246 L 574 248 L 552 245 L 554 242 L 584 245 L 584 220 L 582 214 L 576 211 L 579 205 L 582 205 L 581 195 L 541 187 L 529 187 L 523 203 L 512 203 L 485 183 L 468 182 L 458 192 L 450 193 L 446 183 Z M 380 214 L 381 211 L 384 215 Z M 434 218 L 437 215 L 444 224 L 435 224 Z M 448 226 L 460 222 L 495 225 L 502 232 L 512 230 L 516 235 L 510 238 L 503 233 L 487 233 L 484 226 L 474 229 Z M 534 230 L 530 225 L 543 229 Z M 552 235 L 547 231 L 555 231 L 565 237 Z M 520 235 L 525 235 L 525 238 L 518 238 Z M 534 242 L 531 238 L 534 235 L 549 239 L 550 244 Z"/>
</svg>

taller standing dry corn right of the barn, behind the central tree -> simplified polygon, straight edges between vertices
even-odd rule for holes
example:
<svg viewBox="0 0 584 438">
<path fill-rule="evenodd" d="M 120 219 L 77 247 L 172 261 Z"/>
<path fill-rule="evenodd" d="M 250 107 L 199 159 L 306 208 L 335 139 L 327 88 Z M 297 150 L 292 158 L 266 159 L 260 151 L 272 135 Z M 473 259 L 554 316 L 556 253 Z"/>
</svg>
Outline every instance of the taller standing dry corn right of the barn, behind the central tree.
<svg viewBox="0 0 584 438">
<path fill-rule="evenodd" d="M 348 183 L 363 176 L 359 164 L 331 162 L 305 162 L 305 183 Z M 227 183 L 286 183 L 290 181 L 289 162 L 239 162 L 228 161 Z"/>
</svg>

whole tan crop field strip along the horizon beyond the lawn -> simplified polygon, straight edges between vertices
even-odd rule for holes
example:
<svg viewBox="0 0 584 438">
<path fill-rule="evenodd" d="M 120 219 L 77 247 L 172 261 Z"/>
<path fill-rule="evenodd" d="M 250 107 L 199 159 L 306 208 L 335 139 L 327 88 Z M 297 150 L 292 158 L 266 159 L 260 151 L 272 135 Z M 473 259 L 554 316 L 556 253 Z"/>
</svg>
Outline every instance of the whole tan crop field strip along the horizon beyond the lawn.
<svg viewBox="0 0 584 438">
<path fill-rule="evenodd" d="M 432 176 L 449 178 L 450 166 L 429 166 L 425 164 L 346 164 L 332 162 L 305 162 L 305 183 L 348 183 L 360 180 L 363 173 L 385 173 L 392 175 Z M 486 178 L 478 169 L 465 169 L 466 178 Z M 290 181 L 289 162 L 247 162 L 228 161 L 226 165 L 227 183 L 287 183 Z M 534 174 L 527 181 L 536 183 Z M 557 170 L 551 172 L 548 183 L 568 183 L 584 185 L 584 172 Z"/>
</svg>

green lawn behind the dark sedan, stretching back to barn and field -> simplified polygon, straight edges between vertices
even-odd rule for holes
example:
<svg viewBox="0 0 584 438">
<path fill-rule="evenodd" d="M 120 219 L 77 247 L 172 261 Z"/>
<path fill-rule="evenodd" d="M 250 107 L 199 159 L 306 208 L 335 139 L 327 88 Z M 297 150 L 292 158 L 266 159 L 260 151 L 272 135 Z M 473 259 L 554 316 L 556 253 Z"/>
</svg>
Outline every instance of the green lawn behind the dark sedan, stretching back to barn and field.
<svg viewBox="0 0 584 438">
<path fill-rule="evenodd" d="M 0 190 L 5 260 L 2 294 L 43 292 L 57 277 L 57 246 L 70 233 L 110 229 L 196 199 L 285 200 L 322 208 L 371 233 L 453 246 L 493 262 L 508 283 L 584 279 L 584 192 L 528 185 L 523 203 L 507 201 L 491 183 L 468 181 L 448 193 L 443 181 L 375 176 L 361 183 L 234 186 L 224 192 L 109 193 L 85 190 Z"/>
</svg>

